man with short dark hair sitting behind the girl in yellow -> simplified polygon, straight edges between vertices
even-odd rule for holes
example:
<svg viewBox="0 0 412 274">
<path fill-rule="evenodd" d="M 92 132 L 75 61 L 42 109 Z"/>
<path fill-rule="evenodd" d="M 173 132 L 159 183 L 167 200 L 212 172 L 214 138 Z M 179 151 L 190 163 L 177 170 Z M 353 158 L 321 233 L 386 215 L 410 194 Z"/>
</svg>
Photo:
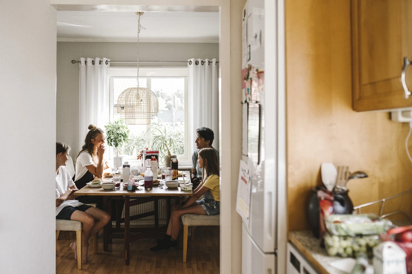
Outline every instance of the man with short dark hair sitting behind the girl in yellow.
<svg viewBox="0 0 412 274">
<path fill-rule="evenodd" d="M 207 127 L 196 129 L 196 140 L 194 141 L 194 143 L 196 143 L 196 150 L 194 150 L 192 155 L 192 177 L 190 178 L 190 181 L 193 183 L 194 187 L 197 187 L 202 180 L 202 169 L 199 168 L 199 163 L 197 163 L 197 155 L 199 153 L 199 150 L 205 147 L 213 148 L 218 155 L 219 166 L 219 151 L 212 147 L 214 139 L 215 134 L 213 133 L 213 130 Z"/>
</svg>

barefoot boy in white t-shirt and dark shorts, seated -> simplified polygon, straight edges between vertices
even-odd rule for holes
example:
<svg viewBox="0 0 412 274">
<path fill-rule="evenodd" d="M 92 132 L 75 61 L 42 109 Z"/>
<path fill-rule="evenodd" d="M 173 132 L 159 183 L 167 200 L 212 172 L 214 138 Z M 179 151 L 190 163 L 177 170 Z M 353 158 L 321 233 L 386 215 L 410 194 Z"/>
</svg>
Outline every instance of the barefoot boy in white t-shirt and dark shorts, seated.
<svg viewBox="0 0 412 274">
<path fill-rule="evenodd" d="M 69 151 L 68 145 L 56 143 L 56 219 L 82 222 L 82 262 L 85 264 L 87 263 L 90 236 L 97 233 L 110 221 L 110 215 L 103 210 L 84 205 L 74 199 L 74 192 L 78 189 L 64 168 L 69 159 Z M 71 243 L 70 248 L 75 252 L 77 260 L 76 242 Z"/>
</svg>

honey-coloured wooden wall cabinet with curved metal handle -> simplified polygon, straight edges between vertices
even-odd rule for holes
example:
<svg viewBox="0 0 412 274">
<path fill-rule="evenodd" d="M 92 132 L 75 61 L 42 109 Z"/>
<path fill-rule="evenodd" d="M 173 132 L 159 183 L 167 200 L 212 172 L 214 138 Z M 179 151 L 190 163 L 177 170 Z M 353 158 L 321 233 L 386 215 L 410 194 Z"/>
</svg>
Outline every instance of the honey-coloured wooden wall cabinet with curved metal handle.
<svg viewBox="0 0 412 274">
<path fill-rule="evenodd" d="M 412 0 L 352 0 L 353 109 L 412 107 L 400 82 L 404 57 L 412 60 Z M 412 90 L 412 66 L 406 74 Z"/>
</svg>

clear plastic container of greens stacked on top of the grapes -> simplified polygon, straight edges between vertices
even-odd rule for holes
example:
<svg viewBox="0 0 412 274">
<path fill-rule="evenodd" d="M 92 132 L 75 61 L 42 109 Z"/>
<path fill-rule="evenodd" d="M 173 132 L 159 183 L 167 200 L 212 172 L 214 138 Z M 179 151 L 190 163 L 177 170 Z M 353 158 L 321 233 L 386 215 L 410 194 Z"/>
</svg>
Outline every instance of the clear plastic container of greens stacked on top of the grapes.
<svg viewBox="0 0 412 274">
<path fill-rule="evenodd" d="M 330 234 L 339 236 L 376 235 L 393 226 L 375 214 L 332 214 L 325 224 Z"/>
</svg>

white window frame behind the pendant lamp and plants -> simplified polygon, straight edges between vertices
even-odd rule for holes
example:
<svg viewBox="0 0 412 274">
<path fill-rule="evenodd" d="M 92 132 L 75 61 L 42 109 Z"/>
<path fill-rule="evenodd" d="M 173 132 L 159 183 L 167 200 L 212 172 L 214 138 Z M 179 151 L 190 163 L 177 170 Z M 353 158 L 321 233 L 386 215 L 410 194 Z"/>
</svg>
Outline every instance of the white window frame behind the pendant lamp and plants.
<svg viewBox="0 0 412 274">
<path fill-rule="evenodd" d="M 110 67 L 109 69 L 109 121 L 112 122 L 114 120 L 114 113 L 115 109 L 113 93 L 114 93 L 114 78 L 136 78 L 137 76 L 137 67 Z M 185 155 L 178 155 L 179 166 L 192 166 L 192 152 L 189 152 L 189 142 L 190 142 L 190 134 L 189 134 L 189 110 L 188 110 L 188 102 L 187 102 L 187 67 L 139 67 L 139 78 L 147 78 L 147 88 L 151 89 L 151 81 L 152 78 L 184 78 L 184 94 L 185 94 Z M 146 138 L 150 138 L 150 127 L 151 125 L 147 125 L 146 128 L 148 129 Z M 109 150 L 108 154 L 109 161 L 112 161 L 114 154 L 113 150 Z M 140 160 L 136 159 L 136 155 L 129 155 L 129 157 L 125 157 L 124 160 L 129 161 L 129 163 L 140 163 Z M 163 165 L 163 164 L 161 164 Z"/>
</svg>

